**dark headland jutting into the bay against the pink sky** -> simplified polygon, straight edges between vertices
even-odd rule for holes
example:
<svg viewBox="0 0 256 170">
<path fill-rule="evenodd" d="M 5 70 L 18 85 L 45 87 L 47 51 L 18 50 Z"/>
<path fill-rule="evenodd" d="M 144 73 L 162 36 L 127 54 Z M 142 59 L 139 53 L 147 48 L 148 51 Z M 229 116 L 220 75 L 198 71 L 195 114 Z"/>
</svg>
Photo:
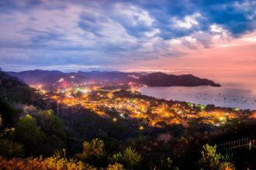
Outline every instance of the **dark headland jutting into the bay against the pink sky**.
<svg viewBox="0 0 256 170">
<path fill-rule="evenodd" d="M 150 73 L 145 76 L 141 76 L 139 82 L 144 83 L 149 87 L 196 87 L 206 85 L 212 87 L 220 87 L 219 83 L 214 83 L 212 80 L 201 79 L 191 74 L 175 76 L 173 74 L 165 74 L 161 72 Z"/>
</svg>

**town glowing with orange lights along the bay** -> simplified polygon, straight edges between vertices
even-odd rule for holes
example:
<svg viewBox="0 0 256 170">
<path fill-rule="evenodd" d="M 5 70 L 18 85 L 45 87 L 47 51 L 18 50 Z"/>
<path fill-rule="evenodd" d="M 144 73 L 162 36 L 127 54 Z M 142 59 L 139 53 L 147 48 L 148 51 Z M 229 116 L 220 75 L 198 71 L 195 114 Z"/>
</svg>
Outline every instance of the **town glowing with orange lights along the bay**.
<svg viewBox="0 0 256 170">
<path fill-rule="evenodd" d="M 188 127 L 193 118 L 201 118 L 203 124 L 220 126 L 234 118 L 253 116 L 250 111 L 238 108 L 222 108 L 212 105 L 161 100 L 141 95 L 141 85 L 135 83 L 69 83 L 61 78 L 53 87 L 45 90 L 42 85 L 33 86 L 45 99 L 55 100 L 57 107 L 83 107 L 102 117 L 119 119 L 137 118 L 144 124 L 163 128 L 164 124 L 182 124 Z M 58 109 L 57 111 L 60 111 Z M 113 115 L 112 113 L 116 114 Z M 140 130 L 144 127 L 140 126 Z"/>
</svg>

